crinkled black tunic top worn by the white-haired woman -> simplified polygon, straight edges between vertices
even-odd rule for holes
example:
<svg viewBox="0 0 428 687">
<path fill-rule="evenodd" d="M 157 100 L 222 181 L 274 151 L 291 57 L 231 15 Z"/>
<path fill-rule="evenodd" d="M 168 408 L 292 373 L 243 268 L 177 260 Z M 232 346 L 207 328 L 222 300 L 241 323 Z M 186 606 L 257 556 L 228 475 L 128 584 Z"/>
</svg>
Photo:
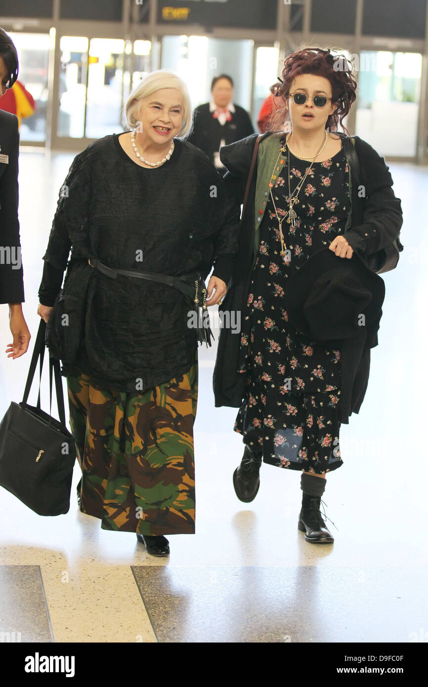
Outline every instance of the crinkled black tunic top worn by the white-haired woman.
<svg viewBox="0 0 428 687">
<path fill-rule="evenodd" d="M 135 391 L 136 379 L 146 389 L 190 368 L 197 340 L 186 297 L 159 282 L 113 280 L 87 263 L 92 257 L 113 268 L 204 278 L 214 263 L 214 274 L 229 281 L 239 205 L 200 150 L 174 144 L 170 160 L 150 170 L 128 157 L 119 135 L 106 136 L 71 165 L 43 256 L 52 267 L 39 291 L 51 305 L 71 248 L 63 374 L 85 372 L 99 385 Z"/>
</svg>

